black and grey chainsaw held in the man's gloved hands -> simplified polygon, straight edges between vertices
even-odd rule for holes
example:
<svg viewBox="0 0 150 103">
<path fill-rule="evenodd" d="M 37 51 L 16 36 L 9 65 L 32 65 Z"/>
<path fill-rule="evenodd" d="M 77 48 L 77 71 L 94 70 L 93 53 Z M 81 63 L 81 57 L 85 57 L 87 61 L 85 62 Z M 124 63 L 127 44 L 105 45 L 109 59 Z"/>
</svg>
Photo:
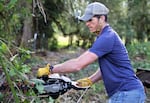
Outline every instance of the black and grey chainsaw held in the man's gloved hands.
<svg viewBox="0 0 150 103">
<path fill-rule="evenodd" d="M 39 90 L 38 86 L 41 86 L 42 90 Z M 51 74 L 31 79 L 31 82 L 28 83 L 28 85 L 26 83 L 19 83 L 17 84 L 17 87 L 22 91 L 33 89 L 37 95 L 41 97 L 50 96 L 53 99 L 57 99 L 60 95 L 63 95 L 70 89 L 86 90 L 89 88 L 89 86 L 80 87 L 76 81 L 72 81 L 70 78 L 59 74 Z M 5 86 L 2 85 L 0 90 L 4 88 Z"/>
</svg>

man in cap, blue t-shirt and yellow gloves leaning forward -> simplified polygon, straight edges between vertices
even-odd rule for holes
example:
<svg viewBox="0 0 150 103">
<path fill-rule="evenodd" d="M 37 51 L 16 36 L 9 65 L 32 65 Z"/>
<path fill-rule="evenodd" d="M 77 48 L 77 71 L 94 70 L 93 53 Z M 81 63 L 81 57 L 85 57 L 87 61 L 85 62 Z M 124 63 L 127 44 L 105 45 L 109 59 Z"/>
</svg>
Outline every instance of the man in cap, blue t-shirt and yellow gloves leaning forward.
<svg viewBox="0 0 150 103">
<path fill-rule="evenodd" d="M 78 83 L 90 86 L 103 80 L 109 96 L 108 103 L 144 103 L 146 95 L 143 85 L 133 71 L 119 35 L 107 23 L 108 12 L 109 9 L 99 2 L 87 6 L 79 19 L 85 21 L 90 32 L 97 34 L 97 39 L 81 56 L 53 66 L 51 72 L 80 71 L 98 60 L 100 68 L 90 77 L 78 80 Z M 38 70 L 38 76 L 46 73 L 50 73 L 48 67 Z"/>
</svg>

